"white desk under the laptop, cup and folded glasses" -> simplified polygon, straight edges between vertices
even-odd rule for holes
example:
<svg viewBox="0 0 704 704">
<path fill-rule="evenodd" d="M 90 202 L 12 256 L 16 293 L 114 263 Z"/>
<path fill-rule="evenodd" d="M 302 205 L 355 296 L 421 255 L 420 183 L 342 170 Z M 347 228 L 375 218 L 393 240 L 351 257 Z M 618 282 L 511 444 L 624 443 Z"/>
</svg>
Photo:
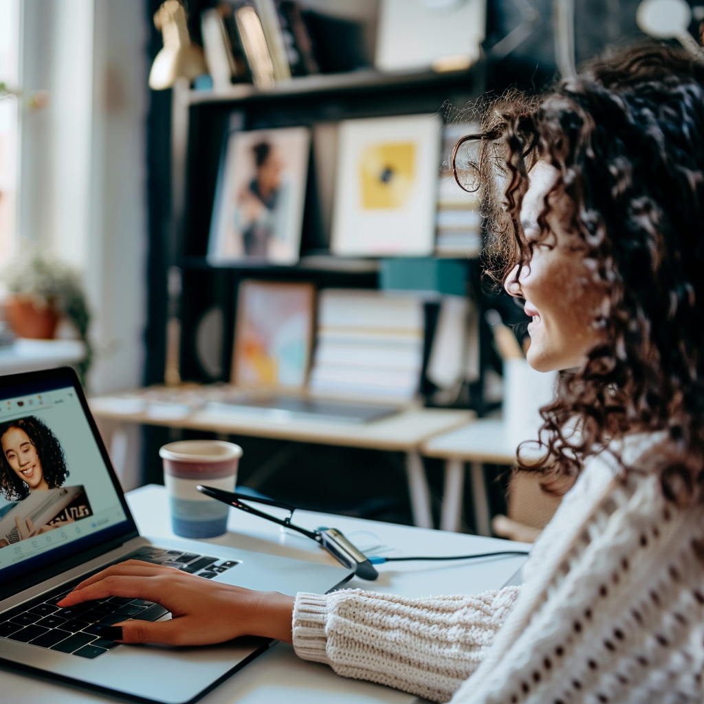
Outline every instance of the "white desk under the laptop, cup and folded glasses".
<svg viewBox="0 0 704 704">
<path fill-rule="evenodd" d="M 165 490 L 145 486 L 127 495 L 139 529 L 150 536 L 171 537 Z M 498 549 L 523 549 L 521 543 L 492 538 L 398 526 L 389 523 L 296 511 L 296 520 L 313 528 L 321 524 L 338 527 L 360 546 L 378 555 L 441 554 L 461 555 Z M 284 532 L 274 524 L 230 510 L 229 531 L 208 541 L 311 562 L 332 558 L 303 536 Z M 374 537 L 376 536 L 376 538 Z M 353 579 L 351 588 L 428 596 L 440 593 L 478 593 L 497 589 L 520 569 L 524 558 L 494 558 L 472 562 L 400 562 L 379 565 L 377 582 Z M 12 704 L 96 704 L 109 702 L 92 693 L 0 671 L 2 700 Z M 326 665 L 296 658 L 293 648 L 277 643 L 218 686 L 201 700 L 203 704 L 411 704 L 420 703 L 410 694 L 369 682 L 338 677 Z"/>
</svg>

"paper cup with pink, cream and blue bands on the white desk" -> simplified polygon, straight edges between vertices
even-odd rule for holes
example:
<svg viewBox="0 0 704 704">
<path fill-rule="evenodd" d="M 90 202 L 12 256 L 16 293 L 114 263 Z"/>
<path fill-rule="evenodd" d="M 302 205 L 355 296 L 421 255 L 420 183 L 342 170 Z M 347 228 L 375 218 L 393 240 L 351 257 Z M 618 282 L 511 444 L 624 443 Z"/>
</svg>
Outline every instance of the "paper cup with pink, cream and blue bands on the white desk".
<svg viewBox="0 0 704 704">
<path fill-rule="evenodd" d="M 171 504 L 171 527 L 184 538 L 214 538 L 227 531 L 229 507 L 201 494 L 196 486 L 234 491 L 242 448 L 223 440 L 180 440 L 159 456 Z"/>
</svg>

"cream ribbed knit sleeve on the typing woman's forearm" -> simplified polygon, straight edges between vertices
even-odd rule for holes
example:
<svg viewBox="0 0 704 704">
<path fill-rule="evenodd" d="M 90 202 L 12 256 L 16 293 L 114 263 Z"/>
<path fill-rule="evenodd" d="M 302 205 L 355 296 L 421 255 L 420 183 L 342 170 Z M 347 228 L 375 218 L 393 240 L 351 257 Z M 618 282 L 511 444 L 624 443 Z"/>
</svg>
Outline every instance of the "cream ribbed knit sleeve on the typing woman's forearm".
<svg viewBox="0 0 704 704">
<path fill-rule="evenodd" d="M 294 648 L 344 677 L 445 702 L 479 666 L 519 589 L 422 599 L 358 589 L 299 593 Z"/>
</svg>

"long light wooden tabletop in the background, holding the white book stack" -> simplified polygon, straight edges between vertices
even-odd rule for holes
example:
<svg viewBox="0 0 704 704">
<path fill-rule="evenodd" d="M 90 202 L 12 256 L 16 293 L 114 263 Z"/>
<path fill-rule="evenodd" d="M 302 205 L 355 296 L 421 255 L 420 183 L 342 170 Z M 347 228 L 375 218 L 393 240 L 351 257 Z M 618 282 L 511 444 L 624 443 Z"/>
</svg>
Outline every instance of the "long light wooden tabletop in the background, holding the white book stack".
<svg viewBox="0 0 704 704">
<path fill-rule="evenodd" d="M 158 417 L 149 410 L 120 413 L 123 400 L 118 396 L 96 396 L 89 403 L 96 417 L 122 422 L 401 452 L 413 450 L 428 438 L 466 425 L 474 418 L 472 411 L 437 408 L 411 408 L 358 425 L 330 423 L 325 419 L 277 421 L 246 413 L 208 410 L 194 410 L 182 417 Z"/>
</svg>

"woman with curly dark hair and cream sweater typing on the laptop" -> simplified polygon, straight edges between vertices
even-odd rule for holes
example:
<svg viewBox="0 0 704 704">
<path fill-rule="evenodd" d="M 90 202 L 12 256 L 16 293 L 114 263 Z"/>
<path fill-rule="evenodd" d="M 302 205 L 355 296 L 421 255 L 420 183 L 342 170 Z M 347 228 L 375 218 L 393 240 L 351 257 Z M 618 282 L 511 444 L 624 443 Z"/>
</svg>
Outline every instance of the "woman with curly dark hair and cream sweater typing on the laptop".
<svg viewBox="0 0 704 704">
<path fill-rule="evenodd" d="M 629 49 L 497 101 L 473 141 L 492 268 L 531 318 L 529 363 L 560 370 L 519 453 L 566 492 L 524 584 L 291 598 L 130 561 L 61 605 L 159 601 L 172 619 L 123 641 L 268 636 L 439 702 L 704 700 L 704 63 Z"/>
</svg>

